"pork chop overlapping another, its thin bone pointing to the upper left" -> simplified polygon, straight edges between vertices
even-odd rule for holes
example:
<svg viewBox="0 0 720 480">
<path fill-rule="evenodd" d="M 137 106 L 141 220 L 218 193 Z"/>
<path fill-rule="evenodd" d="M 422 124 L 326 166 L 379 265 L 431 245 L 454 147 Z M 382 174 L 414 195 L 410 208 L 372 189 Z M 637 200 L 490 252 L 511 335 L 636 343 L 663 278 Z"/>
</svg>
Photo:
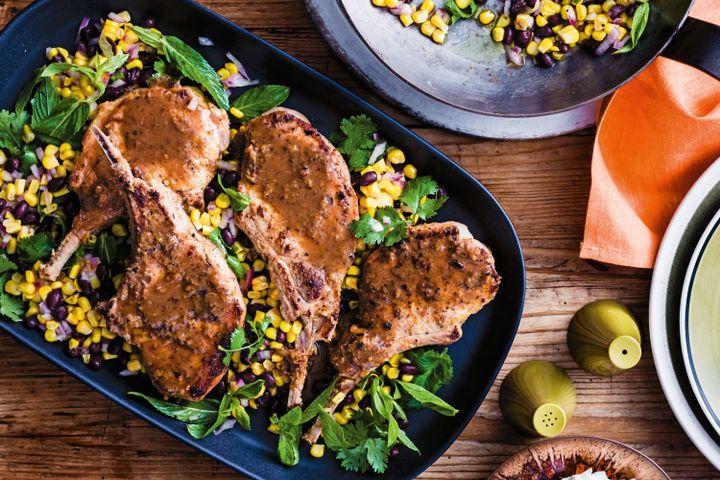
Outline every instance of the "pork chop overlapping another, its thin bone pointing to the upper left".
<svg viewBox="0 0 720 480">
<path fill-rule="evenodd" d="M 218 345 L 243 324 L 245 304 L 223 253 L 200 234 L 180 196 L 131 170 L 97 127 L 134 236 L 132 263 L 102 310 L 111 331 L 137 345 L 163 395 L 198 401 L 226 367 Z"/>
</svg>

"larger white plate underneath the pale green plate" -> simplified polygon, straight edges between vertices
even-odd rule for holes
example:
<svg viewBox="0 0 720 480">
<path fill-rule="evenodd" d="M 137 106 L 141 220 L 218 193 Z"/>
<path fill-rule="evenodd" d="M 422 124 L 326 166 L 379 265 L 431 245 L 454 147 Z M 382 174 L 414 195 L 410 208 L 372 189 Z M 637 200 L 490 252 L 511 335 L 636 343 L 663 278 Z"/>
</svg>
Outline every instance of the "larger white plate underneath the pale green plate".
<svg viewBox="0 0 720 480">
<path fill-rule="evenodd" d="M 680 345 L 682 284 L 692 253 L 720 206 L 720 161 L 695 183 L 660 245 L 650 289 L 650 342 L 660 384 L 675 417 L 700 452 L 720 469 L 720 435 L 697 402 Z"/>
</svg>

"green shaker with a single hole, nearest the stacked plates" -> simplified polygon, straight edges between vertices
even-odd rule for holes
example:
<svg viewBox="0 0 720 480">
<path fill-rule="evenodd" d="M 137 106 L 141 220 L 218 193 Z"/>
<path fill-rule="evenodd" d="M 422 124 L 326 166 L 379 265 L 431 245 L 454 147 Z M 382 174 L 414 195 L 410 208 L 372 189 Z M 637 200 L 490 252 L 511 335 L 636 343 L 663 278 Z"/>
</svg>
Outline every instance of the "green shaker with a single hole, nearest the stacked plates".
<svg viewBox="0 0 720 480">
<path fill-rule="evenodd" d="M 588 303 L 568 328 L 568 348 L 588 373 L 611 377 L 628 370 L 642 355 L 640 328 L 630 310 L 614 300 Z"/>
</svg>

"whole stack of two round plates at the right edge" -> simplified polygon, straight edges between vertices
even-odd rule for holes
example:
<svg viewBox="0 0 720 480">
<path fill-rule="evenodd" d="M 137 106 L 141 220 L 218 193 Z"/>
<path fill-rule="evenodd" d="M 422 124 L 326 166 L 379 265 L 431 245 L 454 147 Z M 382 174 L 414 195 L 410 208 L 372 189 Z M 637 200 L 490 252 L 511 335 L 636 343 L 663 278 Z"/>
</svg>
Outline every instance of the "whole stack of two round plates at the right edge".
<svg viewBox="0 0 720 480">
<path fill-rule="evenodd" d="M 650 292 L 660 383 L 695 446 L 720 469 L 720 160 L 680 204 Z"/>
</svg>

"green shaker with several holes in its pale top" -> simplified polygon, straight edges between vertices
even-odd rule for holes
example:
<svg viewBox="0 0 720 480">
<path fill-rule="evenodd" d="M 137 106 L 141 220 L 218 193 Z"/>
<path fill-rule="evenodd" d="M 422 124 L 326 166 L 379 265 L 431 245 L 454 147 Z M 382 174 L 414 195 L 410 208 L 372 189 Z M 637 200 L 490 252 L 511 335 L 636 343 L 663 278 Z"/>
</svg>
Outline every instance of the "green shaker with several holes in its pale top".
<svg viewBox="0 0 720 480">
<path fill-rule="evenodd" d="M 557 365 L 531 360 L 513 368 L 500 387 L 500 410 L 513 427 L 531 436 L 554 437 L 575 413 L 575 387 Z"/>
</svg>

